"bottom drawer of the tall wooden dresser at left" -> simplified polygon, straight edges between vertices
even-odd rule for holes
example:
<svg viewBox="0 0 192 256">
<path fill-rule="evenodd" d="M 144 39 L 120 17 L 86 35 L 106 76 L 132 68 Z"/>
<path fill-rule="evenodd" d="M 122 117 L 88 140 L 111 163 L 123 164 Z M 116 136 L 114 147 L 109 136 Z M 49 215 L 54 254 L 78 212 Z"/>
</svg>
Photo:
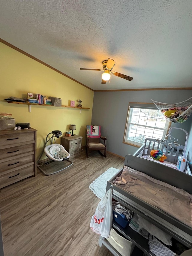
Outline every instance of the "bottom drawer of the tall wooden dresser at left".
<svg viewBox="0 0 192 256">
<path fill-rule="evenodd" d="M 35 175 L 34 165 L 30 165 L 29 167 L 25 167 L 10 173 L 6 173 L 0 176 L 0 188 L 3 188 L 21 179 L 25 179 L 29 176 L 34 176 L 34 175 Z"/>
</svg>

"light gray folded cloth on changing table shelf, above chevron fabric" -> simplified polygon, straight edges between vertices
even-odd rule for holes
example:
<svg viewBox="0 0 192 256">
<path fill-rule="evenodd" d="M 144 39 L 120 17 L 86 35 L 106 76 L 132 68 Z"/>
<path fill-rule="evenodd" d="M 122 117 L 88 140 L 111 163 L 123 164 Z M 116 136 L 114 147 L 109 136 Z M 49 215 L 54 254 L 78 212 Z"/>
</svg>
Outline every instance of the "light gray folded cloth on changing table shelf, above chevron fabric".
<svg viewBox="0 0 192 256">
<path fill-rule="evenodd" d="M 167 233 L 165 233 L 160 228 L 156 227 L 146 219 L 142 218 L 138 215 L 138 224 L 139 229 L 144 228 L 146 229 L 150 234 L 157 237 L 159 240 L 161 240 L 166 245 L 171 245 L 171 236 Z"/>
</svg>

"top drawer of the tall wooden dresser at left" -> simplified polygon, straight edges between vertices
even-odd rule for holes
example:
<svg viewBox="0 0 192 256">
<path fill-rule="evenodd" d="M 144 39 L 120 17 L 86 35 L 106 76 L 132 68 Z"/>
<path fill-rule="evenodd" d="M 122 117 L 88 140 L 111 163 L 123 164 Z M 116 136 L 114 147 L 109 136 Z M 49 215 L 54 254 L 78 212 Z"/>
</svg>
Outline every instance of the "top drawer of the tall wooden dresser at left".
<svg viewBox="0 0 192 256">
<path fill-rule="evenodd" d="M 29 133 L 13 133 L 13 134 L 4 134 L 0 135 L 0 145 L 13 145 L 15 143 L 22 143 L 26 141 L 33 141 L 35 140 L 34 138 L 34 133 L 29 132 Z"/>
</svg>

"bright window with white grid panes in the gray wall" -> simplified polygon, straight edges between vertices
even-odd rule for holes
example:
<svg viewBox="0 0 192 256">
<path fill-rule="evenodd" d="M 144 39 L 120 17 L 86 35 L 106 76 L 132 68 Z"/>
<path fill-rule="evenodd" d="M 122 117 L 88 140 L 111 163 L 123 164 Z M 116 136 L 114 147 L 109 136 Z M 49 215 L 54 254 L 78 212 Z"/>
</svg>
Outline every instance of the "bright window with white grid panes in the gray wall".
<svg viewBox="0 0 192 256">
<path fill-rule="evenodd" d="M 168 128 L 169 121 L 158 109 L 130 106 L 124 142 L 141 146 L 146 138 L 162 138 Z"/>
</svg>

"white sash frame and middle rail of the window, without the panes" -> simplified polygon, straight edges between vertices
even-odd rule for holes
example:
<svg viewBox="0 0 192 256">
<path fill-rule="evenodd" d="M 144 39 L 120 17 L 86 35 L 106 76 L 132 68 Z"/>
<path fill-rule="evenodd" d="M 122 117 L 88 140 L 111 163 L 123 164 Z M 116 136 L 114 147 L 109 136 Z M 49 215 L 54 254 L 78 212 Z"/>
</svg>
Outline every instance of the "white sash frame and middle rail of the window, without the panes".
<svg viewBox="0 0 192 256">
<path fill-rule="evenodd" d="M 140 147 L 143 145 L 143 143 L 140 143 L 140 142 L 136 142 L 136 141 L 133 141 L 133 140 L 128 140 L 128 133 L 129 133 L 129 127 L 131 125 L 135 125 L 135 126 L 143 126 L 143 127 L 147 127 L 147 128 L 155 128 L 155 129 L 159 129 L 159 130 L 163 130 L 163 136 L 164 137 L 166 134 L 168 134 L 168 130 L 170 128 L 170 122 L 166 119 L 166 122 L 165 122 L 165 127 L 164 128 L 158 128 L 158 127 L 153 127 L 153 126 L 149 126 L 149 125 L 142 125 L 142 124 L 137 124 L 137 123 L 132 123 L 131 122 L 131 117 L 132 117 L 132 112 L 133 112 L 133 109 L 134 108 L 138 108 L 138 109 L 153 109 L 153 110 L 158 110 L 157 107 L 151 107 L 150 105 L 148 105 L 149 103 L 145 103 L 145 104 L 136 104 L 137 106 L 135 106 L 136 103 L 132 103 L 132 105 L 129 105 L 128 107 L 128 115 L 127 115 L 127 122 L 126 122 L 126 126 L 125 126 L 125 134 L 124 134 L 124 140 L 123 140 L 123 143 L 125 144 L 129 144 L 129 145 L 133 145 L 133 146 L 137 146 L 137 147 Z M 150 107 L 149 107 L 150 106 Z M 163 116 L 162 116 L 163 117 Z M 160 138 L 160 137 L 159 137 Z"/>
</svg>

